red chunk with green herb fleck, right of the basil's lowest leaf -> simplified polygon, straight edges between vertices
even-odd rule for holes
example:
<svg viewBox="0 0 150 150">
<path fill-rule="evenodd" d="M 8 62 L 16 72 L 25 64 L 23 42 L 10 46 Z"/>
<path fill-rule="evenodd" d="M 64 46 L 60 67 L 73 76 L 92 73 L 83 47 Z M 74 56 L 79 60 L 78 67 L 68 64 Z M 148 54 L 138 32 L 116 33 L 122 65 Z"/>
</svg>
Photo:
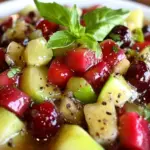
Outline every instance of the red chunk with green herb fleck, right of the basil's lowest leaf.
<svg viewBox="0 0 150 150">
<path fill-rule="evenodd" d="M 113 40 L 105 40 L 100 45 L 103 52 L 103 60 L 108 63 L 110 68 L 113 68 L 121 60 L 126 58 L 124 50 L 120 49 Z"/>
</svg>

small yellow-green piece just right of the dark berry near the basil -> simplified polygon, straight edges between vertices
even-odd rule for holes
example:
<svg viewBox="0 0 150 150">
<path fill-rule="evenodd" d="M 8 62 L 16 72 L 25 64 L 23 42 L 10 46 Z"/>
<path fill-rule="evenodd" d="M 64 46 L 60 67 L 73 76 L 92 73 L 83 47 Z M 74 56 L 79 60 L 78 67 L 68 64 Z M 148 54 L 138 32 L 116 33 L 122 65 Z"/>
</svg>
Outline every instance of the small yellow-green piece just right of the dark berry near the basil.
<svg viewBox="0 0 150 150">
<path fill-rule="evenodd" d="M 141 28 L 137 28 L 133 31 L 133 39 L 137 42 L 144 42 L 144 34 Z"/>
</svg>

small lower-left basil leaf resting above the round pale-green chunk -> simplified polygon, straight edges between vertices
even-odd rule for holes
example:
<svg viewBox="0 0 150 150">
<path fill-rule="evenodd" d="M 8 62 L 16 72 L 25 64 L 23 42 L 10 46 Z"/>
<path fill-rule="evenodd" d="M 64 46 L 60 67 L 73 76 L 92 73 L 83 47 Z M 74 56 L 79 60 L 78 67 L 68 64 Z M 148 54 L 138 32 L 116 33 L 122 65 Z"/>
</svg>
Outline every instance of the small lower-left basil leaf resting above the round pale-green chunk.
<svg viewBox="0 0 150 150">
<path fill-rule="evenodd" d="M 75 42 L 74 36 L 72 36 L 67 30 L 55 32 L 49 39 L 47 47 L 51 49 L 64 48 Z"/>
</svg>

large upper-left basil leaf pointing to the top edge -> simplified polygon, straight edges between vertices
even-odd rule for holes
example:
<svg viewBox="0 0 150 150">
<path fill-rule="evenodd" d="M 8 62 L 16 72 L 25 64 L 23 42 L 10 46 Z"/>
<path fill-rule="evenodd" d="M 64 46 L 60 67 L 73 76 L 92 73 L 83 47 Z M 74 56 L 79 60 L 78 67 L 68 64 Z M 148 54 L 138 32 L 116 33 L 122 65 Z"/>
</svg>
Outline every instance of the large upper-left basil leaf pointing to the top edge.
<svg viewBox="0 0 150 150">
<path fill-rule="evenodd" d="M 62 26 L 70 27 L 71 12 L 67 7 L 55 2 L 43 3 L 38 0 L 34 0 L 34 2 L 42 17 Z"/>
</svg>

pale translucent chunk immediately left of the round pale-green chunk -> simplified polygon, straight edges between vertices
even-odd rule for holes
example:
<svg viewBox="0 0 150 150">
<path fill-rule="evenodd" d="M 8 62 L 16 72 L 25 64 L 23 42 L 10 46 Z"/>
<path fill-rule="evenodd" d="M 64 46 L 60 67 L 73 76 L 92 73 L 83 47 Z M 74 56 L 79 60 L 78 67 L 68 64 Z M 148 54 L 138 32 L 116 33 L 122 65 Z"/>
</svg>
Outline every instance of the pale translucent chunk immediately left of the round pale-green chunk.
<svg viewBox="0 0 150 150">
<path fill-rule="evenodd" d="M 9 66 L 24 67 L 24 47 L 16 42 L 11 42 L 6 51 L 5 60 Z"/>
</svg>

